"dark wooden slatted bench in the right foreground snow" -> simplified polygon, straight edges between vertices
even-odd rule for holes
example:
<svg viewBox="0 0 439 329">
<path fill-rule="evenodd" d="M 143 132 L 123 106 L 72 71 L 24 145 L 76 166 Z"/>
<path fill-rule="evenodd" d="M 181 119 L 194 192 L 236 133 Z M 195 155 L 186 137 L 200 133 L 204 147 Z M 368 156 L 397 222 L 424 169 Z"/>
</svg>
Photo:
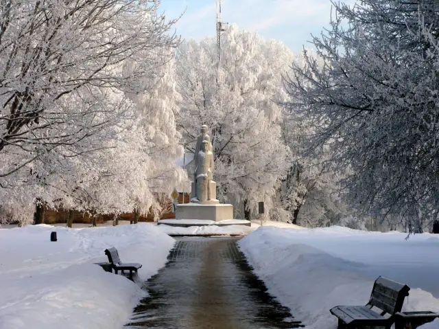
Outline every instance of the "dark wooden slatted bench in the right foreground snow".
<svg viewBox="0 0 439 329">
<path fill-rule="evenodd" d="M 372 288 L 366 306 L 335 306 L 331 313 L 338 318 L 339 329 L 361 328 L 364 326 L 390 329 L 395 313 L 401 312 L 403 302 L 410 288 L 385 277 L 378 277 Z M 375 310 L 379 309 L 379 310 Z"/>
</svg>

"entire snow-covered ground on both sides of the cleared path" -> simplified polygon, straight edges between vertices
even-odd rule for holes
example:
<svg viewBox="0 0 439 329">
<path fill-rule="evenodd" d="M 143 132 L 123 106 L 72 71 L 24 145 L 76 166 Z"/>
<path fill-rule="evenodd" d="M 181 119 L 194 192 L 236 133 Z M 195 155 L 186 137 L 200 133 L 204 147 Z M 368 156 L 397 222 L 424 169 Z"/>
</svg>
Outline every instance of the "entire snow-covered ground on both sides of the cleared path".
<svg viewBox="0 0 439 329">
<path fill-rule="evenodd" d="M 209 234 L 249 234 L 241 249 L 270 293 L 309 329 L 336 328 L 329 309 L 366 304 L 379 275 L 412 288 L 405 310 L 439 312 L 437 235 L 405 240 L 401 233 L 342 227 L 303 229 L 278 222 L 258 227 L 139 223 L 0 229 L 0 328 L 121 328 L 145 291 L 93 262 L 106 261 L 104 249 L 115 246 L 123 261 L 143 264 L 139 276 L 146 280 L 165 264 L 174 245 L 169 229 L 178 234 L 206 234 L 207 229 Z M 57 242 L 50 242 L 51 231 L 57 231 Z M 439 328 L 439 321 L 425 328 Z"/>
</svg>

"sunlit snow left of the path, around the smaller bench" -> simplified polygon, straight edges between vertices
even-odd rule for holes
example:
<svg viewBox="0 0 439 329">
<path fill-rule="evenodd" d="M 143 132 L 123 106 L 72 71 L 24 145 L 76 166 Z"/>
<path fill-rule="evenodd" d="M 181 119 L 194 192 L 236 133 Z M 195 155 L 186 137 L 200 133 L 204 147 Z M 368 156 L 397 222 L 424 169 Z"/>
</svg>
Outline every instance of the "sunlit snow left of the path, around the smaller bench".
<svg viewBox="0 0 439 329">
<path fill-rule="evenodd" d="M 57 242 L 50 242 L 56 231 Z M 67 229 L 37 225 L 0 229 L 0 328 L 117 328 L 145 291 L 93 262 L 115 246 L 140 262 L 146 280 L 166 262 L 174 239 L 154 225 Z"/>
</svg>

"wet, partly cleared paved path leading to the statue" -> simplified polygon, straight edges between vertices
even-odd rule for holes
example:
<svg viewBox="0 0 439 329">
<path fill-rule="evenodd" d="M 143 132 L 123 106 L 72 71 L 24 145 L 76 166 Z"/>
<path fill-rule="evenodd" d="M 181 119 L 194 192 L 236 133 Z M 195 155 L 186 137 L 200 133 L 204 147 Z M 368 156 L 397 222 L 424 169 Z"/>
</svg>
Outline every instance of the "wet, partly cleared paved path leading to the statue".
<svg viewBox="0 0 439 329">
<path fill-rule="evenodd" d="M 237 238 L 182 238 L 128 328 L 297 328 L 252 273 Z"/>
</svg>

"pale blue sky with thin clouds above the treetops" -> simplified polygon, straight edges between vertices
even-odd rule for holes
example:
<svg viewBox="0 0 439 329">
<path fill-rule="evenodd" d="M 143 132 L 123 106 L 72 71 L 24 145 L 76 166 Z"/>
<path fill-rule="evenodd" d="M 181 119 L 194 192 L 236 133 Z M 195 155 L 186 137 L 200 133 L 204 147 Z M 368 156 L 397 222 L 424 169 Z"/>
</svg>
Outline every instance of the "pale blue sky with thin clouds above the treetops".
<svg viewBox="0 0 439 329">
<path fill-rule="evenodd" d="M 161 10 L 169 18 L 182 18 L 176 25 L 183 38 L 215 35 L 215 0 L 162 0 Z M 236 23 L 241 30 L 258 32 L 264 38 L 283 41 L 294 52 L 329 25 L 329 0 L 223 0 L 222 21 Z"/>
</svg>

